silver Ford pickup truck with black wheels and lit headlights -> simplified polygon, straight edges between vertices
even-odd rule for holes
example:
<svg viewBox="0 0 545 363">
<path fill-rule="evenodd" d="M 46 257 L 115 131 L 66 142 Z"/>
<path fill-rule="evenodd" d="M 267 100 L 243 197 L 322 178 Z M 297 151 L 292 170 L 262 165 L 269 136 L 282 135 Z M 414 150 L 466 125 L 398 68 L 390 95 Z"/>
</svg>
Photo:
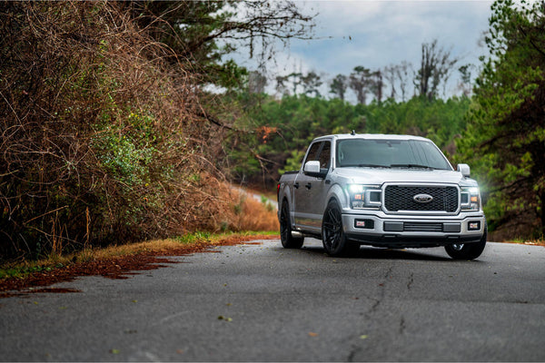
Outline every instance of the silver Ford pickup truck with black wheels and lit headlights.
<svg viewBox="0 0 545 363">
<path fill-rule="evenodd" d="M 278 183 L 282 246 L 322 240 L 332 256 L 360 245 L 444 246 L 453 259 L 484 250 L 487 225 L 470 167 L 451 163 L 431 140 L 335 134 L 312 141 L 298 172 Z"/>
</svg>

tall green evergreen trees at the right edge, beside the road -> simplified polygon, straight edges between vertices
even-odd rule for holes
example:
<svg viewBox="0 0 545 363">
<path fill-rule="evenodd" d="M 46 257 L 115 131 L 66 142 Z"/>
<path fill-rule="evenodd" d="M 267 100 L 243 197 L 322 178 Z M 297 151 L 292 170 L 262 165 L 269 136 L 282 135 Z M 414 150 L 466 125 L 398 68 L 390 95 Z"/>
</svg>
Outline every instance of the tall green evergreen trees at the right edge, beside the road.
<svg viewBox="0 0 545 363">
<path fill-rule="evenodd" d="M 460 159 L 485 185 L 496 238 L 545 236 L 545 6 L 492 5 Z"/>
</svg>

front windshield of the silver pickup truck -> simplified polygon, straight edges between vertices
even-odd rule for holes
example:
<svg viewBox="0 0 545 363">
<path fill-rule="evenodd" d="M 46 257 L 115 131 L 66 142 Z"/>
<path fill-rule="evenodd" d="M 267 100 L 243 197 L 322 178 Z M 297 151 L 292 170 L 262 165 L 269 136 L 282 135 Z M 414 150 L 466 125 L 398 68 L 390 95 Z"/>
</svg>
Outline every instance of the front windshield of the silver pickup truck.
<svg viewBox="0 0 545 363">
<path fill-rule="evenodd" d="M 433 142 L 349 139 L 337 142 L 337 167 L 452 170 Z"/>
</svg>

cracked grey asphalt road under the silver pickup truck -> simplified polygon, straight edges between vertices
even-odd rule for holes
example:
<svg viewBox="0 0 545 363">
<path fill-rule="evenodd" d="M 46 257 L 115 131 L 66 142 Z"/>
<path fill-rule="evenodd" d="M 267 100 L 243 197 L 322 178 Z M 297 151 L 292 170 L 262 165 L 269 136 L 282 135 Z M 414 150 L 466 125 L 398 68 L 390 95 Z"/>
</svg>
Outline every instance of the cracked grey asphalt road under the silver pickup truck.
<svg viewBox="0 0 545 363">
<path fill-rule="evenodd" d="M 0 299 L 0 359 L 545 360 L 543 247 L 489 243 L 474 261 L 440 248 L 337 259 L 317 240 L 217 252 Z"/>
</svg>

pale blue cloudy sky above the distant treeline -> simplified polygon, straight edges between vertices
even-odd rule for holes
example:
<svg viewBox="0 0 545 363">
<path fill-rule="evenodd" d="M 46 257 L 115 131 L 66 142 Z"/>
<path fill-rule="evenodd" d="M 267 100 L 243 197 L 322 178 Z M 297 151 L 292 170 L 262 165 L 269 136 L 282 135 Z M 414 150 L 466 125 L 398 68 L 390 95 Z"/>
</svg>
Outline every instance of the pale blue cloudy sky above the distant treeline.
<svg viewBox="0 0 545 363">
<path fill-rule="evenodd" d="M 418 67 L 421 44 L 437 39 L 438 45 L 464 64 L 479 66 L 480 55 L 488 54 L 483 33 L 488 29 L 489 0 L 477 1 L 296 1 L 304 14 L 315 14 L 312 40 L 292 40 L 288 48 L 277 44 L 276 56 L 266 73 L 276 75 L 313 71 L 322 79 L 351 74 L 362 65 L 372 70 L 410 62 Z M 240 51 L 235 61 L 252 70 L 257 62 Z M 477 74 L 475 68 L 472 74 Z M 446 93 L 456 93 L 458 72 L 453 73 Z M 269 85 L 273 91 L 273 82 Z M 322 86 L 325 93 L 329 87 Z M 327 88 L 327 89 L 325 89 Z M 269 90 L 271 91 L 271 90 Z M 353 95 L 352 95 L 353 97 Z"/>
</svg>

